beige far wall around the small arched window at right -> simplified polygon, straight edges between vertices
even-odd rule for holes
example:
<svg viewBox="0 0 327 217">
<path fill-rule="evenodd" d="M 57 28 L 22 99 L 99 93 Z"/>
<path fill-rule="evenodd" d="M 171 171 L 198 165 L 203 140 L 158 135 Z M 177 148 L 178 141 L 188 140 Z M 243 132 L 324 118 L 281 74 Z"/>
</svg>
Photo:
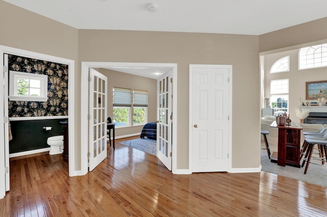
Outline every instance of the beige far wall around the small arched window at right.
<svg viewBox="0 0 327 217">
<path fill-rule="evenodd" d="M 311 102 L 317 100 L 306 100 L 306 82 L 314 82 L 318 80 L 327 80 L 326 68 L 315 68 L 298 70 L 298 51 L 293 49 L 289 51 L 277 52 L 271 55 L 265 55 L 265 96 L 270 96 L 270 80 L 289 79 L 289 114 L 292 121 L 298 122 L 295 116 L 295 108 L 302 102 Z M 278 59 L 290 56 L 290 71 L 283 73 L 270 74 L 272 64 Z"/>
</svg>

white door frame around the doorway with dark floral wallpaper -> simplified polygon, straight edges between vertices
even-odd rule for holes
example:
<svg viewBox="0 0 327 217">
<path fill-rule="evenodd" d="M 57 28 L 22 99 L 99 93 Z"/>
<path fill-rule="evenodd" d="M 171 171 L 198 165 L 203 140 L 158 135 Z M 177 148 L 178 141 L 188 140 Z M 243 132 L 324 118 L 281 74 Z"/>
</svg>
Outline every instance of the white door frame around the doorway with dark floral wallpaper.
<svg viewBox="0 0 327 217">
<path fill-rule="evenodd" d="M 22 49 L 17 49 L 17 48 L 13 48 L 13 47 L 7 47 L 7 46 L 3 46 L 0 45 L 0 63 L 1 63 L 1 67 L 0 67 L 0 74 L 3 74 L 3 57 L 4 57 L 4 53 L 8 53 L 11 55 L 17 55 L 17 56 L 24 56 L 24 57 L 29 57 L 29 58 L 34 58 L 34 59 L 39 59 L 39 60 L 46 60 L 46 61 L 51 61 L 51 62 L 55 62 L 55 63 L 62 63 L 62 64 L 66 64 L 68 65 L 68 73 L 69 73 L 69 77 L 68 78 L 68 89 L 69 89 L 69 99 L 68 99 L 68 121 L 70 123 L 73 124 L 69 124 L 68 125 L 68 130 L 69 130 L 69 134 L 71 135 L 69 137 L 69 141 L 68 141 L 68 149 L 69 149 L 69 157 L 68 157 L 68 163 L 69 163 L 69 176 L 76 176 L 78 175 L 75 171 L 75 142 L 74 142 L 74 82 L 75 82 L 75 61 L 74 60 L 69 60 L 69 59 L 64 59 L 64 58 L 59 58 L 59 57 L 54 57 L 54 56 L 50 56 L 50 55 L 44 55 L 42 53 L 37 53 L 37 52 L 32 52 L 32 51 L 28 51 L 28 50 L 22 50 Z M 8 69 L 9 71 L 9 69 Z M 3 79 L 3 78 L 2 78 Z M 2 79 L 0 79 L 0 81 L 2 81 Z M 1 92 L 3 93 L 3 92 Z M 3 96 L 0 97 L 0 100 L 3 100 Z M 0 115 L 2 115 L 2 117 L 0 118 L 0 130 L 1 132 L 3 132 L 4 128 L 3 128 L 3 123 L 4 123 L 4 111 L 2 111 L 2 108 L 0 108 Z M 0 133 L 1 134 L 1 133 Z M 0 135 L 0 158 L 1 159 L 5 159 L 5 147 L 4 147 L 4 143 L 2 142 L 4 141 L 4 135 Z M 8 156 L 9 157 L 9 156 Z M 4 160 L 0 160 L 0 199 L 3 198 L 6 195 L 6 192 L 4 191 L 4 186 L 5 186 L 5 161 Z"/>
</svg>

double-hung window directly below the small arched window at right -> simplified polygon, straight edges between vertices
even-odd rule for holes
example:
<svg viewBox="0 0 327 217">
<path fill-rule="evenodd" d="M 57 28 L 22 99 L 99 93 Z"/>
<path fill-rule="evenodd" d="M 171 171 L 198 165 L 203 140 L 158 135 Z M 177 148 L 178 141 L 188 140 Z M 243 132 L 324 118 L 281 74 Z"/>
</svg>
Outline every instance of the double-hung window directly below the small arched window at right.
<svg viewBox="0 0 327 217">
<path fill-rule="evenodd" d="M 270 102 L 274 112 L 281 111 L 288 113 L 288 79 L 270 81 Z"/>
</svg>

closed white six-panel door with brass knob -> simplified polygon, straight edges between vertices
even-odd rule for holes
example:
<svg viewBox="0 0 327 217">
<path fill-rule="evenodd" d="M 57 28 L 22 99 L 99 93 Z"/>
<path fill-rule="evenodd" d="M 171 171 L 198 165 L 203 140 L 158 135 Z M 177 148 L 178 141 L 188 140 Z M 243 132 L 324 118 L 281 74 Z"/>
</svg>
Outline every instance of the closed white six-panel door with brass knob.
<svg viewBox="0 0 327 217">
<path fill-rule="evenodd" d="M 231 66 L 190 65 L 192 172 L 228 170 Z"/>
</svg>

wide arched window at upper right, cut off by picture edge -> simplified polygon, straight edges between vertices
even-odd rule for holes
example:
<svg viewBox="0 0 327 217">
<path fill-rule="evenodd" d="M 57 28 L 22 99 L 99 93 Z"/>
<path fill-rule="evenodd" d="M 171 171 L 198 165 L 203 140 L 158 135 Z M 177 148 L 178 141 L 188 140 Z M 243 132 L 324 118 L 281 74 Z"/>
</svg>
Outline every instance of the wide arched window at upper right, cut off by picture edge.
<svg viewBox="0 0 327 217">
<path fill-rule="evenodd" d="M 298 68 L 310 69 L 327 66 L 327 44 L 303 47 L 298 52 Z"/>
</svg>

